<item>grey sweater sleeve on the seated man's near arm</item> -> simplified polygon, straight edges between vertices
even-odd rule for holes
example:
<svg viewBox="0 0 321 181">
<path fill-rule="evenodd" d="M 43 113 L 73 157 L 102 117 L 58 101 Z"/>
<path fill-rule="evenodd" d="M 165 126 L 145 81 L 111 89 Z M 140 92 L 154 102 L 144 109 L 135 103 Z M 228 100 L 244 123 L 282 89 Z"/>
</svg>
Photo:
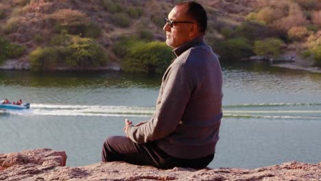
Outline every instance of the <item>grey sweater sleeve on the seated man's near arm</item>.
<svg viewBox="0 0 321 181">
<path fill-rule="evenodd" d="M 172 64 L 165 73 L 161 99 L 158 99 L 154 117 L 151 121 L 127 129 L 128 137 L 136 143 L 156 141 L 171 134 L 180 123 L 189 97 L 193 90 L 185 64 Z"/>
</svg>

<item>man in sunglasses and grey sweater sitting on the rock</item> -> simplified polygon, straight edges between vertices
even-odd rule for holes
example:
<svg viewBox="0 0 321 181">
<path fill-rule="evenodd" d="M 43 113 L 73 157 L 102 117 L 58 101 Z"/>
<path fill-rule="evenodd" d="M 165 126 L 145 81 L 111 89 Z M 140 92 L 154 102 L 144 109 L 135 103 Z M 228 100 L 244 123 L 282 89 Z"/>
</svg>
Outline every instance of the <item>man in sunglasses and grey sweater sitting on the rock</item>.
<svg viewBox="0 0 321 181">
<path fill-rule="evenodd" d="M 150 121 L 132 124 L 126 136 L 111 136 L 102 146 L 102 161 L 134 165 L 204 168 L 213 160 L 222 119 L 222 71 L 204 42 L 206 11 L 185 1 L 169 12 L 163 27 L 176 59 L 160 86 Z"/>
</svg>

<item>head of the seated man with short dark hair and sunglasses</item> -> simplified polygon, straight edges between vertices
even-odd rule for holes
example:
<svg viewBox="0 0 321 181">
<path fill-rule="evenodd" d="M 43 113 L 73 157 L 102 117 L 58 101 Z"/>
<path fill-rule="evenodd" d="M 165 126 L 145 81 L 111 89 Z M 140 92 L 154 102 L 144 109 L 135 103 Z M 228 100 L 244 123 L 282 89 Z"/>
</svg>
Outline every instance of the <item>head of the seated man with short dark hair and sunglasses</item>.
<svg viewBox="0 0 321 181">
<path fill-rule="evenodd" d="M 199 3 L 193 1 L 178 3 L 169 12 L 167 19 L 163 29 L 169 47 L 179 47 L 206 32 L 206 11 Z"/>
</svg>

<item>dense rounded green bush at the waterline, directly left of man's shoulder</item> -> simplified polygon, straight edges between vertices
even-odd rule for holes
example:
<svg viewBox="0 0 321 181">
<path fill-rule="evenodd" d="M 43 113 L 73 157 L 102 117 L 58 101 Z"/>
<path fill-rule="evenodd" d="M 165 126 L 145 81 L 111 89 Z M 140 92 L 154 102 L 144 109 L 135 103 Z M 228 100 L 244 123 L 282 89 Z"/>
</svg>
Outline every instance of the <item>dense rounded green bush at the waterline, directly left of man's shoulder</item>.
<svg viewBox="0 0 321 181">
<path fill-rule="evenodd" d="M 123 58 L 121 68 L 136 73 L 164 73 L 173 58 L 171 48 L 165 43 L 138 41 Z"/>
</svg>

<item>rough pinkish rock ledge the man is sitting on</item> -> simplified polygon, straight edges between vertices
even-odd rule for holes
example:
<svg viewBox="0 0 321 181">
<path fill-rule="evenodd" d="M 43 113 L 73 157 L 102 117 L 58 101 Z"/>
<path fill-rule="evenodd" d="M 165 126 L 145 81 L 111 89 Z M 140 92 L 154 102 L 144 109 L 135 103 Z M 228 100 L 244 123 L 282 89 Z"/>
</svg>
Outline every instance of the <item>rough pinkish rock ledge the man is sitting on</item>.
<svg viewBox="0 0 321 181">
<path fill-rule="evenodd" d="M 65 152 L 51 149 L 0 154 L 0 180 L 321 180 L 318 165 L 286 162 L 258 169 L 156 169 L 126 162 L 64 167 Z"/>
</svg>

